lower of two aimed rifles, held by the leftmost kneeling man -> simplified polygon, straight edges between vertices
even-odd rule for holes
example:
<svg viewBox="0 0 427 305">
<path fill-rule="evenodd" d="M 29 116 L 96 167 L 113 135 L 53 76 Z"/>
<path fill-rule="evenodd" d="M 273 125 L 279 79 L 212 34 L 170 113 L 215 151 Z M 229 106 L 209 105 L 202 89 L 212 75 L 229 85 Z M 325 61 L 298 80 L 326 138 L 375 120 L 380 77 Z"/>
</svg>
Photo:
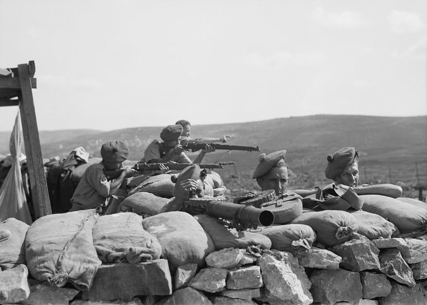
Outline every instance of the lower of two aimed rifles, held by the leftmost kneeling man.
<svg viewBox="0 0 427 305">
<path fill-rule="evenodd" d="M 165 163 L 136 163 L 132 168 L 138 173 L 143 173 L 145 171 L 155 171 L 159 170 L 160 164 L 163 164 L 169 167 L 170 170 L 183 170 L 184 168 L 190 165 L 199 165 L 200 168 L 204 169 L 213 169 L 213 168 L 224 168 L 225 165 L 234 164 L 234 162 L 219 162 L 219 163 L 175 163 L 175 162 L 165 162 Z M 104 175 L 107 177 L 107 180 L 116 179 L 123 172 L 123 168 L 116 170 L 104 170 Z"/>
</svg>

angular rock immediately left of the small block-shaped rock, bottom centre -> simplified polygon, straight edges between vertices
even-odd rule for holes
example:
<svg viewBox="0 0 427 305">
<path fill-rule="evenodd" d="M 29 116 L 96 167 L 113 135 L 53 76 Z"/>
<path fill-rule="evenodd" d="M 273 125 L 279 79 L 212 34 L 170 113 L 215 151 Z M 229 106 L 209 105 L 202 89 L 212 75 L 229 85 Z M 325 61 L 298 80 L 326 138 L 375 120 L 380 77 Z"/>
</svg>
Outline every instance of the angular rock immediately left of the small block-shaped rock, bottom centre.
<svg viewBox="0 0 427 305">
<path fill-rule="evenodd" d="M 225 289 L 227 274 L 227 269 L 212 267 L 202 269 L 190 280 L 187 286 L 211 293 L 219 292 Z"/>
</svg>

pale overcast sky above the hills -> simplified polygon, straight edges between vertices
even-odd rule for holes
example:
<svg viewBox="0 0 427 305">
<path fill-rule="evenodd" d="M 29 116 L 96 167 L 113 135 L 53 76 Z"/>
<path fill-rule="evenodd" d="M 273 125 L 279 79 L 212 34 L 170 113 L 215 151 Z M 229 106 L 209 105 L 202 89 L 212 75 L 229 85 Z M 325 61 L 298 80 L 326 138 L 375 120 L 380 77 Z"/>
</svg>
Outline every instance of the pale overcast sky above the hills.
<svg viewBox="0 0 427 305">
<path fill-rule="evenodd" d="M 425 0 L 0 0 L 39 130 L 426 115 L 426 45 Z"/>
</svg>

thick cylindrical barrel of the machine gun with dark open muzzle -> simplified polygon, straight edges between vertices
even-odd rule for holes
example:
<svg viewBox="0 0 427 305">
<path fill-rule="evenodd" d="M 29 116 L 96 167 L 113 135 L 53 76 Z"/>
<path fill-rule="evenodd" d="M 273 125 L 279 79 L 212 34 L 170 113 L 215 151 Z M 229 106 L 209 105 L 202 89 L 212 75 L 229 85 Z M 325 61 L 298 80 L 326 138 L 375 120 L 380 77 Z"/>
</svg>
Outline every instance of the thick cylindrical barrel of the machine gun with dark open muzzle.
<svg viewBox="0 0 427 305">
<path fill-rule="evenodd" d="M 246 225 L 272 225 L 274 222 L 273 212 L 265 209 L 258 209 L 253 206 L 222 202 L 218 200 L 207 200 L 207 198 L 191 198 L 190 202 L 208 201 L 205 214 L 212 217 L 238 220 Z"/>
</svg>

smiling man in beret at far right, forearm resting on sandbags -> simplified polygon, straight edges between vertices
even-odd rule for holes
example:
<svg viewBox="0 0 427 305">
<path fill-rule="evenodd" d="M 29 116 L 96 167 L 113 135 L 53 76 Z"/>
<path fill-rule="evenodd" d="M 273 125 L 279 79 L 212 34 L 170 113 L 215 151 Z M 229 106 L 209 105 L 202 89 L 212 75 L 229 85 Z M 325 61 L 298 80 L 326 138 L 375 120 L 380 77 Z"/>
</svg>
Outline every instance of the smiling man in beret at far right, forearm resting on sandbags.
<svg viewBox="0 0 427 305">
<path fill-rule="evenodd" d="M 351 187 L 358 195 L 377 194 L 393 198 L 402 196 L 402 188 L 394 184 L 359 186 L 359 152 L 354 147 L 344 147 L 327 156 L 325 177 L 343 188 Z"/>
</svg>

